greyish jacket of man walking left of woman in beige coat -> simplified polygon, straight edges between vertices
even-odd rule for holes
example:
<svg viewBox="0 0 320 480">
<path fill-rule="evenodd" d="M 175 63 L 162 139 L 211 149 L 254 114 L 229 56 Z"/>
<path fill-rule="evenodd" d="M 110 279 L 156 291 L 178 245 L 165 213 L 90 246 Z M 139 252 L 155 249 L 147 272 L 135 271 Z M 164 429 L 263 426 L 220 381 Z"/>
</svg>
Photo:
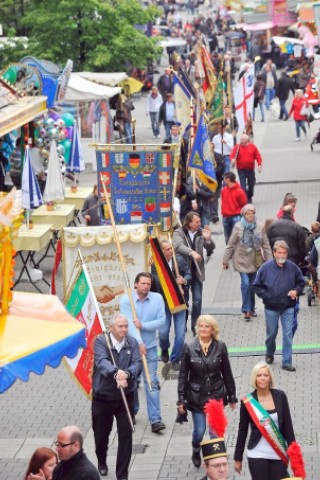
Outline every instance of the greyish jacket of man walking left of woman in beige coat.
<svg viewBox="0 0 320 480">
<path fill-rule="evenodd" d="M 202 229 L 198 230 L 193 238 L 193 242 L 189 237 L 188 230 L 183 230 L 182 228 L 177 228 L 173 233 L 173 245 L 175 250 L 179 255 L 181 255 L 186 262 L 188 262 L 191 270 L 192 276 L 196 276 L 200 282 L 205 280 L 205 268 L 204 268 L 204 258 L 203 258 L 203 249 L 207 251 L 207 255 L 211 255 L 213 250 L 216 248 L 213 240 L 210 240 L 207 243 L 202 235 Z M 198 263 L 201 275 L 199 275 L 198 270 L 192 261 L 190 252 L 192 250 L 198 252 L 201 255 L 201 261 Z"/>
</svg>

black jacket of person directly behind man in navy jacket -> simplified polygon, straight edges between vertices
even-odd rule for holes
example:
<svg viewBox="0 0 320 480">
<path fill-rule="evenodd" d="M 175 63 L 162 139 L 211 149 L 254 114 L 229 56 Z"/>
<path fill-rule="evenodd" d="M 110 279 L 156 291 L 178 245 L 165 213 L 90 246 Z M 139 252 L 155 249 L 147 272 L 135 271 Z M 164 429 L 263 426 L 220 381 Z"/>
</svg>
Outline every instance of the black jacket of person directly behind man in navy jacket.
<svg viewBox="0 0 320 480">
<path fill-rule="evenodd" d="M 289 247 L 288 259 L 296 265 L 301 265 L 307 255 L 306 233 L 299 223 L 283 213 L 283 217 L 274 220 L 267 230 L 267 235 L 273 249 L 277 240 L 284 240 Z"/>
</svg>

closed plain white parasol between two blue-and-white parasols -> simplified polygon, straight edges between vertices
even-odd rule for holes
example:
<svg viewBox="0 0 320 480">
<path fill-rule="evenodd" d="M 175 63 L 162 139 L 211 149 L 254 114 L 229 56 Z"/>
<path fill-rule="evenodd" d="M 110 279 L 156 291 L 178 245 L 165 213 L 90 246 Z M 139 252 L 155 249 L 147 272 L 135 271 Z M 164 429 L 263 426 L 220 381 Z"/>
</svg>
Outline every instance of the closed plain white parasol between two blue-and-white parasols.
<svg viewBox="0 0 320 480">
<path fill-rule="evenodd" d="M 51 142 L 46 186 L 43 192 L 46 203 L 64 200 L 64 185 L 61 175 L 60 160 L 55 140 Z"/>
</svg>

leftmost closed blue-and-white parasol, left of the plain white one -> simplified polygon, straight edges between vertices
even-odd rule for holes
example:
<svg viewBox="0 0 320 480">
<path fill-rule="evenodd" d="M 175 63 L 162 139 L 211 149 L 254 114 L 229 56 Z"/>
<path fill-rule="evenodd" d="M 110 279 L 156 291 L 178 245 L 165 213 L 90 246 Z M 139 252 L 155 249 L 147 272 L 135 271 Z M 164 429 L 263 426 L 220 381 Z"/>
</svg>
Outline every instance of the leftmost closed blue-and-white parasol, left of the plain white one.
<svg viewBox="0 0 320 480">
<path fill-rule="evenodd" d="M 24 154 L 21 190 L 23 208 L 30 210 L 31 208 L 37 208 L 43 205 L 39 183 L 31 165 L 30 148 L 28 146 Z"/>
</svg>

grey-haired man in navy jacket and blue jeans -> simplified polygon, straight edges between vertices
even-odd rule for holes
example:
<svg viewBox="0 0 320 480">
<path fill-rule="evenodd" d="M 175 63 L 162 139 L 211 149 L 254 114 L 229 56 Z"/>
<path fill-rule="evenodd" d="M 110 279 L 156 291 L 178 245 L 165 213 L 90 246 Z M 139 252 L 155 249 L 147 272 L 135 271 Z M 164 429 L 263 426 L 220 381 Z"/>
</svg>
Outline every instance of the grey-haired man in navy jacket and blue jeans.
<svg viewBox="0 0 320 480">
<path fill-rule="evenodd" d="M 253 290 L 262 298 L 266 320 L 266 362 L 274 362 L 279 320 L 282 326 L 282 368 L 288 372 L 296 369 L 292 365 L 292 343 L 294 333 L 294 310 L 305 280 L 299 267 L 288 257 L 288 245 L 278 240 L 273 246 L 272 260 L 258 270 Z"/>
</svg>

